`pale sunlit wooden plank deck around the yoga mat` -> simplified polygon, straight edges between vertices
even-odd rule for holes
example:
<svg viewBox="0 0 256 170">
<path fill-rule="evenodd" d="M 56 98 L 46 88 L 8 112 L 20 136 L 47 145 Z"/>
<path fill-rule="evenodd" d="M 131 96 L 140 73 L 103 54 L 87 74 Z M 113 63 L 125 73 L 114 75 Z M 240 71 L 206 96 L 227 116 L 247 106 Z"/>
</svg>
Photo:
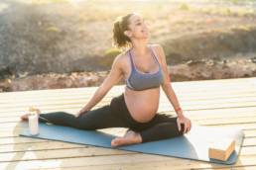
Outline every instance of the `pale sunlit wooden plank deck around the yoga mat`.
<svg viewBox="0 0 256 170">
<path fill-rule="evenodd" d="M 242 127 L 245 139 L 235 165 L 194 161 L 131 151 L 19 136 L 19 117 L 29 106 L 42 112 L 75 113 L 97 87 L 0 93 L 0 169 L 256 169 L 256 77 L 174 82 L 173 88 L 193 124 Z M 115 86 L 95 108 L 123 92 Z M 161 91 L 159 112 L 175 114 Z M 122 135 L 125 128 L 105 128 Z"/>
</svg>

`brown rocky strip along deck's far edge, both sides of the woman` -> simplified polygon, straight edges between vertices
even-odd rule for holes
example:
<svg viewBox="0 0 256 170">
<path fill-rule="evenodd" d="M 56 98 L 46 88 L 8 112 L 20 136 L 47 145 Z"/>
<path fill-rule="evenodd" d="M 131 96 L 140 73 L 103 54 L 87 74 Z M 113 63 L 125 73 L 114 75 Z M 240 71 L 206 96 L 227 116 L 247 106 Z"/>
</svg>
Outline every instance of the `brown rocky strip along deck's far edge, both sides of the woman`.
<svg viewBox="0 0 256 170">
<path fill-rule="evenodd" d="M 214 64 L 212 64 L 214 63 Z M 195 60 L 168 66 L 171 81 L 190 81 L 250 77 L 256 75 L 255 63 L 249 59 Z M 39 74 L 0 81 L 0 91 L 24 91 L 99 86 L 109 71 Z M 121 80 L 119 84 L 124 84 Z"/>
</svg>

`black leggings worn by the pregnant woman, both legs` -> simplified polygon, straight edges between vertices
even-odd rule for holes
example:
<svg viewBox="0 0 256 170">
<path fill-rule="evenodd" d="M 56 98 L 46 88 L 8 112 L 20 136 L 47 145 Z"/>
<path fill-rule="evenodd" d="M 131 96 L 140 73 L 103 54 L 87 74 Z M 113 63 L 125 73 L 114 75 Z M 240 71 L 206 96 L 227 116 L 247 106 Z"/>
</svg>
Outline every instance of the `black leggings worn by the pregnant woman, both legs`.
<svg viewBox="0 0 256 170">
<path fill-rule="evenodd" d="M 52 112 L 40 115 L 40 122 L 75 127 L 80 129 L 99 129 L 106 127 L 128 127 L 142 136 L 142 142 L 159 140 L 182 135 L 177 125 L 177 117 L 157 113 L 147 123 L 136 122 L 130 115 L 124 94 L 114 97 L 110 105 L 91 110 L 76 118 L 65 112 Z"/>
</svg>

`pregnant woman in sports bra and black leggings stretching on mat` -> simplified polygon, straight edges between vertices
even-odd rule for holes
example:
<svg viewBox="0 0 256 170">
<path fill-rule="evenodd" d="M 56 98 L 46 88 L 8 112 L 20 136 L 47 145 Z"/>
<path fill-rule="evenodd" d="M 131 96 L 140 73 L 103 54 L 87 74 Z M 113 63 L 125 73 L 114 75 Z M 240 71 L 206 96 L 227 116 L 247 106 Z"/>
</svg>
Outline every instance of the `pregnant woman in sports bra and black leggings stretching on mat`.
<svg viewBox="0 0 256 170">
<path fill-rule="evenodd" d="M 113 42 L 126 48 L 117 55 L 111 70 L 86 105 L 74 116 L 65 112 L 41 113 L 39 121 L 80 129 L 127 127 L 124 136 L 112 139 L 111 146 L 133 144 L 183 135 L 192 122 L 183 114 L 171 86 L 166 56 L 160 44 L 149 43 L 150 33 L 141 14 L 118 17 L 113 28 Z M 124 92 L 109 105 L 92 108 L 122 78 Z M 160 86 L 175 108 L 177 117 L 157 113 Z M 21 117 L 28 120 L 29 114 Z"/>
</svg>

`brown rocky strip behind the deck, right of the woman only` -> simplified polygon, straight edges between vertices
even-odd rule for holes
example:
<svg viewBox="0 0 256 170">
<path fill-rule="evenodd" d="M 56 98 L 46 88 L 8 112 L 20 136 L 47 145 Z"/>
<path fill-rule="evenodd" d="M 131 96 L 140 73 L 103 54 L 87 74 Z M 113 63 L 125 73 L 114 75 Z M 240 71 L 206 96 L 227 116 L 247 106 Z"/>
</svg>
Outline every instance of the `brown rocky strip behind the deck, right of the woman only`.
<svg viewBox="0 0 256 170">
<path fill-rule="evenodd" d="M 250 60 L 238 58 L 224 59 L 223 61 L 191 60 L 186 64 L 169 67 L 169 70 L 174 81 L 238 78 L 255 75 L 255 64 Z"/>
</svg>

